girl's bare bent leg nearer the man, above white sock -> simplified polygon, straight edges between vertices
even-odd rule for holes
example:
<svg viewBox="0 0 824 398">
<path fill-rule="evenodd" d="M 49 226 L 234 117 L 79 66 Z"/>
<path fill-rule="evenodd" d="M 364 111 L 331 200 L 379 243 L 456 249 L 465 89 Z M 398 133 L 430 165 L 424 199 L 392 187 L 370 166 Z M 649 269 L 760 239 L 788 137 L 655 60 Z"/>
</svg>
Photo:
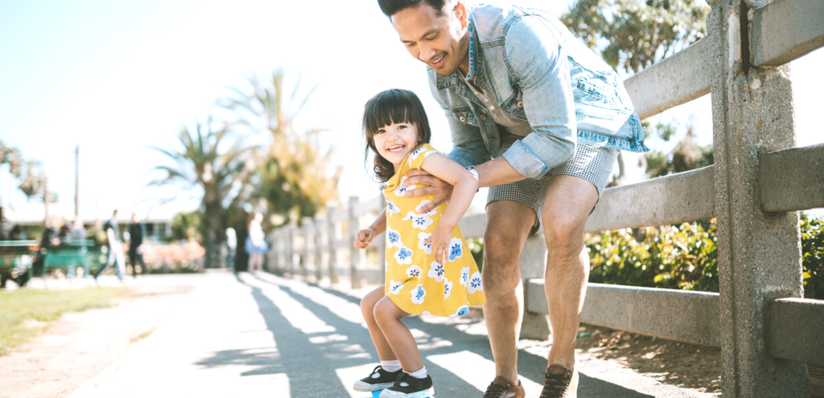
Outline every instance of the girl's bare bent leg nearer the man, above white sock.
<svg viewBox="0 0 824 398">
<path fill-rule="evenodd" d="M 381 327 L 392 352 L 400 360 L 400 365 L 405 372 L 418 372 L 424 368 L 424 361 L 420 358 L 412 332 L 400 321 L 404 316 L 410 314 L 398 308 L 389 297 L 381 298 L 375 305 L 375 321 Z"/>
</svg>

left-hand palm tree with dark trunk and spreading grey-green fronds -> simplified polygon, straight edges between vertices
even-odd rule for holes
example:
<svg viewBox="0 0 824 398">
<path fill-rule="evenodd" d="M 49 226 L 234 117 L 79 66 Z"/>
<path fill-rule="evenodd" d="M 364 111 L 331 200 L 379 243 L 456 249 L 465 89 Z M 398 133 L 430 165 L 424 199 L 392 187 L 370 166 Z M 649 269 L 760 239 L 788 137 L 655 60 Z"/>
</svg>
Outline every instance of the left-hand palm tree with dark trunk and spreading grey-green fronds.
<svg viewBox="0 0 824 398">
<path fill-rule="evenodd" d="M 206 267 L 218 264 L 218 244 L 226 240 L 227 208 L 244 199 L 250 176 L 255 170 L 248 147 L 233 143 L 226 147 L 229 135 L 225 125 L 216 128 L 212 120 L 184 127 L 178 138 L 180 147 L 152 147 L 170 157 L 175 166 L 157 166 L 166 176 L 150 185 L 182 185 L 201 190 L 202 235 L 206 246 Z"/>
</svg>

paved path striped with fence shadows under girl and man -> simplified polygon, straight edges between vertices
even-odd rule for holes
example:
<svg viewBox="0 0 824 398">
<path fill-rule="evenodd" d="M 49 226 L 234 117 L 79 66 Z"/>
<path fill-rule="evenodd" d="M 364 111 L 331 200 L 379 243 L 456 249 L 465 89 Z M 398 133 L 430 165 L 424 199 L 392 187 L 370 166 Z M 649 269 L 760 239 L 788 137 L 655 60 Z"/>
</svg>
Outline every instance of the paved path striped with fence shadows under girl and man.
<svg viewBox="0 0 824 398">
<path fill-rule="evenodd" d="M 351 390 L 377 355 L 359 299 L 270 274 L 207 274 L 157 330 L 70 396 L 366 398 Z M 438 398 L 480 398 L 494 363 L 483 321 L 413 317 Z M 527 398 L 540 395 L 548 344 L 522 341 Z M 578 396 L 709 397 L 580 358 Z"/>
</svg>

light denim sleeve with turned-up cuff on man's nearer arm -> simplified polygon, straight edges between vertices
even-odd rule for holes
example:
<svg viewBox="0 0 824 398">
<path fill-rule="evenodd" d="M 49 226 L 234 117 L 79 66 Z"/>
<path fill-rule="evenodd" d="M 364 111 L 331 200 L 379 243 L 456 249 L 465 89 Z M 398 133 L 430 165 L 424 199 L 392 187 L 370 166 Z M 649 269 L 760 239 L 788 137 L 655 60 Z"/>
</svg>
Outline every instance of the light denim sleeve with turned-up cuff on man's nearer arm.
<svg viewBox="0 0 824 398">
<path fill-rule="evenodd" d="M 540 16 L 523 16 L 507 32 L 505 54 L 532 132 L 503 157 L 522 176 L 541 178 L 572 157 L 577 143 L 566 51 Z"/>
</svg>

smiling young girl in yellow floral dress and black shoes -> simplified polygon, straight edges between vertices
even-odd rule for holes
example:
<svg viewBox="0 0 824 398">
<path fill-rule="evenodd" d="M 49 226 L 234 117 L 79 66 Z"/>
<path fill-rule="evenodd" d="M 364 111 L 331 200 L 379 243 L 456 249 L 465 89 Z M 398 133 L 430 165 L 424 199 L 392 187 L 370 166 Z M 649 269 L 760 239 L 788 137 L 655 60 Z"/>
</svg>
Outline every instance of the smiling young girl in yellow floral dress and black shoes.
<svg viewBox="0 0 824 398">
<path fill-rule="evenodd" d="M 433 396 L 432 378 L 410 330 L 410 315 L 461 316 L 485 302 L 480 272 L 457 222 L 478 190 L 475 174 L 435 151 L 429 143 L 424 106 L 411 91 L 387 90 L 369 100 L 363 113 L 374 171 L 382 181 L 386 208 L 372 226 L 358 232 L 355 247 L 366 248 L 386 231 L 386 283 L 361 302 L 369 335 L 381 359 L 357 391 L 379 391 L 381 398 Z M 452 199 L 421 213 L 434 195 L 407 198 L 406 173 L 423 169 L 454 185 Z"/>
</svg>

